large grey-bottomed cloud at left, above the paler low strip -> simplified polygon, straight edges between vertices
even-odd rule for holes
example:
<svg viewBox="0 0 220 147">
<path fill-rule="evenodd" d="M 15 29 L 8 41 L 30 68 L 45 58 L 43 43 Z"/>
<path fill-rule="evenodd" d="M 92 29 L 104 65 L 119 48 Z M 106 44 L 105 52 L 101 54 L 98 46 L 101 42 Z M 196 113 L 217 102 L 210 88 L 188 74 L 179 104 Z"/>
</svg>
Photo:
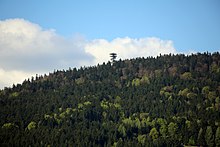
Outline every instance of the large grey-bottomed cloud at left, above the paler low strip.
<svg viewBox="0 0 220 147">
<path fill-rule="evenodd" d="M 0 21 L 0 68 L 50 71 L 80 66 L 92 60 L 83 50 L 82 40 L 63 38 L 23 19 Z"/>
</svg>

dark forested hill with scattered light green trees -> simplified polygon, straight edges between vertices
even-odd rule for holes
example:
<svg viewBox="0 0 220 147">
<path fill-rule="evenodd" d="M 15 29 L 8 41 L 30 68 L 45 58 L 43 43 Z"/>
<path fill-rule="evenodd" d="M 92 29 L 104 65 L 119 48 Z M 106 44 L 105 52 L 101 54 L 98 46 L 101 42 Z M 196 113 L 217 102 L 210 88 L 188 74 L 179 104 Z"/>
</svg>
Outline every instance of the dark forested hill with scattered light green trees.
<svg viewBox="0 0 220 147">
<path fill-rule="evenodd" d="M 220 54 L 54 71 L 0 91 L 0 146 L 220 146 Z"/>
</svg>

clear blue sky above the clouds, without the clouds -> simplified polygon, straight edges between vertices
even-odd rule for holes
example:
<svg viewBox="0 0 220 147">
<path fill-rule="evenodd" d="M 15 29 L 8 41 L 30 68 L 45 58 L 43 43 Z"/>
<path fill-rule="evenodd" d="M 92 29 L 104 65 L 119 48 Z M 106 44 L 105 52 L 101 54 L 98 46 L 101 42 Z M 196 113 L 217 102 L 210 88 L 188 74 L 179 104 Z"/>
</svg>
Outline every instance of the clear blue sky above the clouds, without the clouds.
<svg viewBox="0 0 220 147">
<path fill-rule="evenodd" d="M 219 0 L 0 0 L 0 19 L 24 18 L 88 39 L 159 37 L 178 51 L 220 49 Z"/>
</svg>

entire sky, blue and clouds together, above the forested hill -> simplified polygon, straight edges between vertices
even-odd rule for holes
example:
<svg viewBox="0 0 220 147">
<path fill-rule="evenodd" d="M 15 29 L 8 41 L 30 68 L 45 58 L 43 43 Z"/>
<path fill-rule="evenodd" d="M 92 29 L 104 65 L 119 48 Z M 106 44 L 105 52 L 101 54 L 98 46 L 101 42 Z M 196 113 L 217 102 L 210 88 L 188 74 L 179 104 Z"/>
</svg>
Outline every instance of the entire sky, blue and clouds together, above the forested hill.
<svg viewBox="0 0 220 147">
<path fill-rule="evenodd" d="M 219 35 L 219 0 L 0 0 L 0 89 L 110 52 L 217 52 Z"/>
</svg>

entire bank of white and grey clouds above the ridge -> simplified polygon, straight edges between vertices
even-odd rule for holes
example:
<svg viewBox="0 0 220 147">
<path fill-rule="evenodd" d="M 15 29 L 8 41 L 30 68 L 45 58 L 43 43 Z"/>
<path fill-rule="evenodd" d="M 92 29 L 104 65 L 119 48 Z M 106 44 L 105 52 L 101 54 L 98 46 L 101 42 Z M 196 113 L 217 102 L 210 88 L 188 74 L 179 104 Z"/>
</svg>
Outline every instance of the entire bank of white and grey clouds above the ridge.
<svg viewBox="0 0 220 147">
<path fill-rule="evenodd" d="M 176 53 L 171 40 L 129 37 L 86 40 L 82 36 L 67 38 L 55 30 L 24 19 L 0 21 L 0 89 L 21 83 L 35 74 L 95 65 L 109 61 L 109 53 L 118 58 L 156 56 Z"/>
</svg>

